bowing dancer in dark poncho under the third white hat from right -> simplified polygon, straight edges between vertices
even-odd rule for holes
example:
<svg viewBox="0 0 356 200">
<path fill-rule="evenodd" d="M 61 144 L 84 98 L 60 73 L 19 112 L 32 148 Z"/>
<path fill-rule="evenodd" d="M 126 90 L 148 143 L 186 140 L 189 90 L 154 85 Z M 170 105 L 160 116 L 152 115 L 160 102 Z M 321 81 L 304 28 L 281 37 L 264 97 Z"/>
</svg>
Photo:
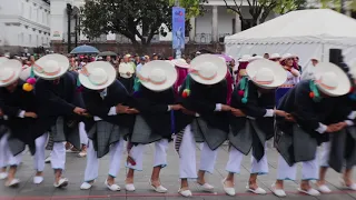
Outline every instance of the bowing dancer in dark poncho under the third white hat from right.
<svg viewBox="0 0 356 200">
<path fill-rule="evenodd" d="M 175 143 L 180 159 L 179 193 L 184 197 L 191 196 L 188 179 L 197 179 L 204 191 L 214 191 L 214 187 L 206 181 L 205 173 L 214 172 L 217 149 L 226 141 L 229 131 L 227 112 L 230 111 L 230 107 L 226 106 L 225 61 L 218 56 L 201 54 L 191 61 L 190 68 L 190 73 L 180 89 L 181 103 L 186 113 L 199 117 L 186 117 L 189 119 L 188 126 L 176 136 Z M 198 174 L 196 142 L 204 142 Z"/>
</svg>

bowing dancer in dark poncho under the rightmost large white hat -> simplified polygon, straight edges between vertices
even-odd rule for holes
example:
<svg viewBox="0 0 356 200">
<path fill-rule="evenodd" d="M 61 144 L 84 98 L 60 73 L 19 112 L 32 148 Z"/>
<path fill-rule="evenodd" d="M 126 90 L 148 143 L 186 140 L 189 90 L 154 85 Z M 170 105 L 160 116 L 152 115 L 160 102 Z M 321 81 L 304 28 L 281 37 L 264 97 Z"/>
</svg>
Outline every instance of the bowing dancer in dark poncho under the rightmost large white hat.
<svg viewBox="0 0 356 200">
<path fill-rule="evenodd" d="M 320 194 L 309 183 L 318 180 L 317 146 L 326 140 L 327 133 L 344 128 L 346 116 L 339 117 L 339 109 L 344 107 L 340 100 L 349 92 L 350 81 L 333 63 L 320 63 L 316 69 L 320 70 L 315 72 L 314 80 L 299 82 L 278 106 L 278 110 L 286 112 L 276 121 L 275 140 L 280 154 L 273 192 L 278 197 L 286 196 L 284 180 L 296 179 L 298 162 L 303 164 L 298 190 L 309 196 Z"/>
</svg>

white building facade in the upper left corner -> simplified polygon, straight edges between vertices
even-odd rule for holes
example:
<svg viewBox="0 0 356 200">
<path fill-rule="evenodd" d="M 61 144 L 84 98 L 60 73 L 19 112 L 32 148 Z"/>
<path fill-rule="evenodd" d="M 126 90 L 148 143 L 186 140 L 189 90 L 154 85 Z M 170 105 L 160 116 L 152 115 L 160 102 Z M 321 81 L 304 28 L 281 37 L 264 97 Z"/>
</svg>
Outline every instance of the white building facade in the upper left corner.
<svg viewBox="0 0 356 200">
<path fill-rule="evenodd" d="M 50 6 L 42 0 L 0 0 L 0 50 L 50 47 Z"/>
</svg>

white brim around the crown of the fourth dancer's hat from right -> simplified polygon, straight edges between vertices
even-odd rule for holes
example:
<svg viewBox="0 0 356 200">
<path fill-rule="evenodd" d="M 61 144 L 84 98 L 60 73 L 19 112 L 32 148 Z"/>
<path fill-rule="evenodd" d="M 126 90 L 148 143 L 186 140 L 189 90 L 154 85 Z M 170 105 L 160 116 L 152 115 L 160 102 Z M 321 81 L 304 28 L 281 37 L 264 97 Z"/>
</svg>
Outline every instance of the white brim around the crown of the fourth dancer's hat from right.
<svg viewBox="0 0 356 200">
<path fill-rule="evenodd" d="M 160 69 L 166 72 L 166 81 L 161 84 L 156 84 L 150 81 L 140 80 L 141 84 L 152 91 L 165 91 L 171 88 L 177 81 L 178 74 L 176 68 L 164 60 L 155 60 L 145 64 L 145 68 L 140 70 L 140 76 L 147 78 L 151 70 Z"/>
</svg>

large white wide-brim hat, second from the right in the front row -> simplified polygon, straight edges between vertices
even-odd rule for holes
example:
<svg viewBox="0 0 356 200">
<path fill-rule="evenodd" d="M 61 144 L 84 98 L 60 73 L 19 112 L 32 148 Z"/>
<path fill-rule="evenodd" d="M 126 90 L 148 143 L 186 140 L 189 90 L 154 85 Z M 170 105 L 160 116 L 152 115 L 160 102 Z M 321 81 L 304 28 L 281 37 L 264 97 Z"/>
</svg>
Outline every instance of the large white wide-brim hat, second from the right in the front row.
<svg viewBox="0 0 356 200">
<path fill-rule="evenodd" d="M 287 80 L 286 70 L 283 69 L 280 64 L 267 59 L 260 59 L 249 63 L 246 72 L 255 84 L 265 89 L 277 88 Z"/>
</svg>

